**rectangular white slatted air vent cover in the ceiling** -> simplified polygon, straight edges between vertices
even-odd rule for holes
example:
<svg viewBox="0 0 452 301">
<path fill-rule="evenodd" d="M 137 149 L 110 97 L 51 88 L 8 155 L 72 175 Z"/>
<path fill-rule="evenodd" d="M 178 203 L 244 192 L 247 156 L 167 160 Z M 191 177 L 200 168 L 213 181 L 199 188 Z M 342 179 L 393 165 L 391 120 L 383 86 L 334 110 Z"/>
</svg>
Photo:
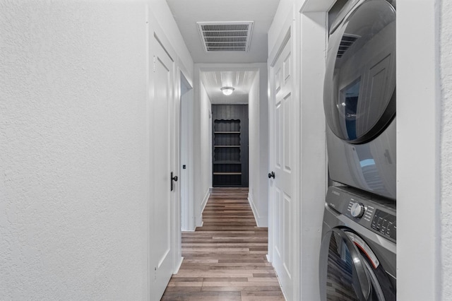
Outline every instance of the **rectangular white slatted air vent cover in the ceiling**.
<svg viewBox="0 0 452 301">
<path fill-rule="evenodd" d="M 206 52 L 249 51 L 253 22 L 198 22 Z"/>
</svg>

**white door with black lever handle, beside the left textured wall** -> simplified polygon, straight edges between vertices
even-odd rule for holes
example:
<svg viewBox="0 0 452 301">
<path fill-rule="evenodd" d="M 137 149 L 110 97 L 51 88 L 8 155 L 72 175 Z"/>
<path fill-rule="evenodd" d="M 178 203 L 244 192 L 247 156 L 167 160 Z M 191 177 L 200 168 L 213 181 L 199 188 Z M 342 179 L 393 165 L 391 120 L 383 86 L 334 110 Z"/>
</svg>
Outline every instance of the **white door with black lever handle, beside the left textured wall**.
<svg viewBox="0 0 452 301">
<path fill-rule="evenodd" d="M 148 25 L 148 300 L 160 300 L 182 262 L 179 182 L 170 191 L 171 172 L 180 176 L 180 71 L 164 31 Z"/>
</svg>

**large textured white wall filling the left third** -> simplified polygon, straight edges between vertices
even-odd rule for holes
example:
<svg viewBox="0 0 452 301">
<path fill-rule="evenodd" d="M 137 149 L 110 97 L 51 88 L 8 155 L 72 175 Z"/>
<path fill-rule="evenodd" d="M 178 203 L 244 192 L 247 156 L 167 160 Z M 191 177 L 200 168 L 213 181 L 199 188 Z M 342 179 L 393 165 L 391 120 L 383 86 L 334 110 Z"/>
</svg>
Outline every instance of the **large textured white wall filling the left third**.
<svg viewBox="0 0 452 301">
<path fill-rule="evenodd" d="M 139 1 L 0 1 L 0 299 L 147 296 Z"/>
</svg>

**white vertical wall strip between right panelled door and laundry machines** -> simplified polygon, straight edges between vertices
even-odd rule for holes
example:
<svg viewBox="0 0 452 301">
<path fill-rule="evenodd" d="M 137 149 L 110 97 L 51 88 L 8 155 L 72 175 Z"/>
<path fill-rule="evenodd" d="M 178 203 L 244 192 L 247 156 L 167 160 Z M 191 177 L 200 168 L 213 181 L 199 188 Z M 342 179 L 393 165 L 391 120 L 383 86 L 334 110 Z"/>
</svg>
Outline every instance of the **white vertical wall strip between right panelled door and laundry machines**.
<svg viewBox="0 0 452 301">
<path fill-rule="evenodd" d="M 301 296 L 316 300 L 319 295 L 319 254 L 325 208 L 326 120 L 323 113 L 325 77 L 326 14 L 304 12 L 300 20 L 301 142 Z"/>
</svg>

